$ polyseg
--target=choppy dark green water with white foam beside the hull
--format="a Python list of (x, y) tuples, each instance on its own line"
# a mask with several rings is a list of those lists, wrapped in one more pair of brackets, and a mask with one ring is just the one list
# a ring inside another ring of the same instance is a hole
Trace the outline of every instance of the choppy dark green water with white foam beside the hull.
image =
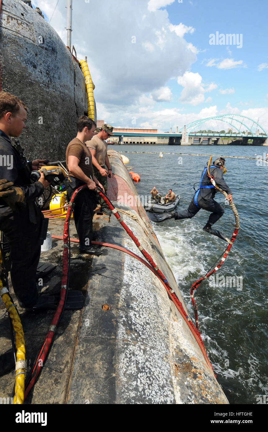
[[(199, 182), (208, 157), (164, 154), (161, 159), (158, 153), (128, 151), (199, 154), (213, 151), (214, 155), (247, 157), (268, 151), (268, 147), (262, 146), (109, 147), (123, 151), (129, 158), (129, 166), (141, 174), (136, 186), (140, 195), (148, 195), (153, 186), (162, 195), (171, 188), (182, 197), (180, 209), (188, 207), (194, 194), (193, 183)], [(227, 159), (226, 167), (224, 178), (233, 192), (240, 231), (226, 262), (217, 272), (218, 286), (213, 281), (202, 284), (197, 302), (199, 330), (229, 402), (251, 404), (257, 403), (257, 397), (268, 395), (268, 164), (257, 166), (251, 159)], [(223, 204), (225, 213), (215, 227), (230, 237), (233, 212), (224, 205), (223, 195), (217, 194), (216, 200)], [(190, 287), (212, 264), (219, 262), (227, 246), (202, 231), (208, 215), (200, 210), (193, 219), (152, 222), (193, 321)], [(236, 283), (226, 283), (222, 276), (235, 276)]]

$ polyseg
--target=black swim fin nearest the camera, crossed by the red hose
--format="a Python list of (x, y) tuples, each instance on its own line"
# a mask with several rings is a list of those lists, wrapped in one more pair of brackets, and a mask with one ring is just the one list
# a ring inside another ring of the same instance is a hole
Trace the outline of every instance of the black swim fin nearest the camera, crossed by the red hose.
[[(57, 309), (60, 295), (41, 295), (38, 302), (32, 308), (25, 308), (26, 311), (37, 311), (38, 309)], [(65, 302), (66, 310), (82, 309), (85, 297), (81, 291), (68, 291)]]

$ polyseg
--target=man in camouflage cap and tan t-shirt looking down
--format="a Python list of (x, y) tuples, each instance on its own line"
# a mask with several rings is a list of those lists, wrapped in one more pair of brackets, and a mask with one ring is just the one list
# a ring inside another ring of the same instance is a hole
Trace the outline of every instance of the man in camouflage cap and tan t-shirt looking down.
[[(107, 155), (107, 138), (109, 138), (113, 134), (113, 127), (110, 124), (103, 124), (101, 127), (101, 131), (95, 135), (90, 141), (87, 141), (85, 144), (89, 147), (91, 155), (92, 155), (92, 164), (93, 171), (98, 181), (103, 185), (105, 194), (107, 195), (107, 175), (112, 174), (112, 170), (110, 167), (110, 162)], [(104, 165), (107, 166), (108, 172), (105, 169)], [(105, 201), (101, 198), (101, 212), (110, 215), (111, 211)]]

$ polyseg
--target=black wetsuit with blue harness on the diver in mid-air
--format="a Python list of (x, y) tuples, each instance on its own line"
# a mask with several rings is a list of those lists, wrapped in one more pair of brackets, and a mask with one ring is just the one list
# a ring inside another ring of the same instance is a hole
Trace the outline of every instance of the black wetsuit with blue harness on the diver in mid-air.
[[(187, 210), (182, 210), (175, 213), (175, 219), (191, 219), (200, 209), (207, 210), (211, 212), (209, 216), (208, 223), (213, 225), (218, 219), (224, 214), (223, 207), (214, 200), (216, 189), (208, 177), (208, 167), (204, 168), (202, 172), (201, 180), (199, 183), (199, 189)], [(224, 181), (223, 172), (220, 167), (216, 165), (211, 165), (210, 174), (214, 177), (215, 183), (227, 194), (232, 194), (229, 187)]]

